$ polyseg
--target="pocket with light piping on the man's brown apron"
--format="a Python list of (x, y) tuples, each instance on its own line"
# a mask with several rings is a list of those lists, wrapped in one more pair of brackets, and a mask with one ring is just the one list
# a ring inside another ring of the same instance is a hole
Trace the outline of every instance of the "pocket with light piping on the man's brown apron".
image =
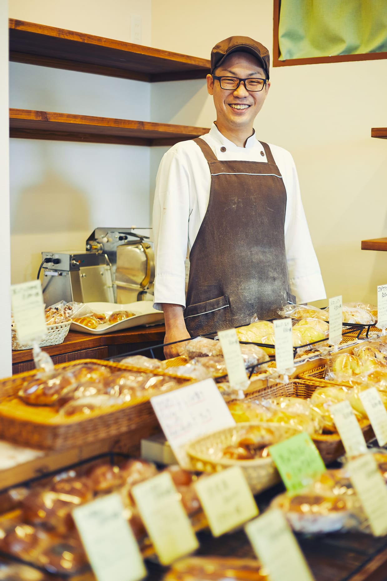
[(191, 337), (207, 335), (223, 329), (230, 329), (231, 317), (229, 297), (205, 300), (204, 303), (190, 304), (184, 311), (187, 331)]

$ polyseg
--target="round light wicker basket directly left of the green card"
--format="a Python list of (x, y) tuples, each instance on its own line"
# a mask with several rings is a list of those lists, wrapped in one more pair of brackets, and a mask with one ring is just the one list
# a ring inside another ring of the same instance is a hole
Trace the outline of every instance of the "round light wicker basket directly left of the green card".
[(250, 426), (259, 426), (263, 432), (267, 429), (270, 434), (274, 432), (278, 440), (284, 440), (299, 433), (296, 428), (280, 424), (258, 424), (255, 422), (236, 424), (232, 428), (220, 430), (188, 444), (186, 452), (194, 465), (194, 469), (199, 472), (219, 472), (225, 468), (239, 466), (243, 470), (253, 494), (258, 494), (280, 482), (280, 475), (271, 457), (256, 458), (256, 460), (222, 458), (222, 450), (233, 443), (238, 433)]

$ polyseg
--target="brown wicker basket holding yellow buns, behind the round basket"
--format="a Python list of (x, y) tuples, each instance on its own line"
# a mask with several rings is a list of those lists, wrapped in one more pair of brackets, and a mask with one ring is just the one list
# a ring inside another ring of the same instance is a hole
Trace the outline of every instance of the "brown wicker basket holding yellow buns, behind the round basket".
[[(302, 397), (302, 399), (308, 399), (312, 396), (313, 392), (317, 388), (337, 386), (337, 383), (324, 381), (322, 385), (321, 379), (314, 381), (313, 379), (293, 379), (289, 383), (277, 384), (270, 386), (267, 389), (262, 389), (259, 394), (255, 397), (272, 398), (272, 397)], [(248, 400), (254, 399), (254, 396), (248, 397)], [(372, 426), (368, 420), (364, 420), (360, 423), (361, 431), (363, 432), (364, 439), (366, 442), (372, 440), (375, 437)], [(321, 457), (323, 458), (325, 464), (336, 460), (339, 456), (345, 454), (344, 446), (341, 438), (338, 434), (313, 434), (312, 440), (319, 450)]]

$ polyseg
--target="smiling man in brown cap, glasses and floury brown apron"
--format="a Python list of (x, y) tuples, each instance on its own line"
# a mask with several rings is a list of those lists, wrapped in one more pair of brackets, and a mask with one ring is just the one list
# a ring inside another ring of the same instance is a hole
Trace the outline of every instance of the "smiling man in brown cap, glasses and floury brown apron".
[[(230, 37), (211, 52), (216, 121), (174, 145), (157, 174), (154, 306), (165, 343), (268, 319), (288, 302), (325, 298), (289, 152), (256, 138), (270, 88), (269, 52)], [(185, 293), (185, 259), (190, 274)], [(179, 354), (179, 346), (164, 349)]]

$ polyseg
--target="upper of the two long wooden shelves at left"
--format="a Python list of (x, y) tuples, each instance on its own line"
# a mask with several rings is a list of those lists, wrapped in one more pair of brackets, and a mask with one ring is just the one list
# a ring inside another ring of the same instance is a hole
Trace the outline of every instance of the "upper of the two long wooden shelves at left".
[(151, 83), (205, 78), (210, 62), (129, 42), (9, 19), (10, 60)]

